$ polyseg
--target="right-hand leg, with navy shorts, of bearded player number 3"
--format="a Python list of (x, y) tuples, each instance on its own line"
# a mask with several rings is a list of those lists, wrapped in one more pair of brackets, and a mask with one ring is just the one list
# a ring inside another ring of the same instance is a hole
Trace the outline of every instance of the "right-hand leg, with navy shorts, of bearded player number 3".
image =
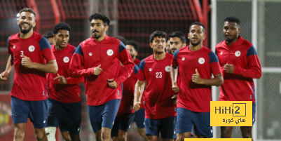
[(29, 101), (29, 119), (34, 126), (36, 140), (46, 141), (47, 100)]

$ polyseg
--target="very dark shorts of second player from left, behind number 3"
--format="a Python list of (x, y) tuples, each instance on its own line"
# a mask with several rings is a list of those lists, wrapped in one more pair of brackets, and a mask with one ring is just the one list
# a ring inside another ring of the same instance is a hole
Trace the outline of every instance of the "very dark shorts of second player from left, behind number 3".
[(48, 119), (46, 127), (60, 127), (71, 135), (78, 135), (81, 126), (81, 101), (74, 103), (58, 102), (48, 99)]

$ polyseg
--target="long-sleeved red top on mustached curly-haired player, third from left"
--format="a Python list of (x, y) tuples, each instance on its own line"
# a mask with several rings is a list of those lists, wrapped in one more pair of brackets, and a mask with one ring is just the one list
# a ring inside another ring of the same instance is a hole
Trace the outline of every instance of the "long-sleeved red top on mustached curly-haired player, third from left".
[[(102, 72), (95, 76), (94, 69), (99, 65)], [(69, 75), (85, 77), (87, 103), (90, 106), (97, 106), (109, 100), (121, 99), (120, 89), (109, 88), (107, 79), (114, 79), (119, 87), (132, 73), (134, 66), (124, 43), (107, 35), (102, 41), (96, 41), (91, 37), (76, 48), (71, 58)]]

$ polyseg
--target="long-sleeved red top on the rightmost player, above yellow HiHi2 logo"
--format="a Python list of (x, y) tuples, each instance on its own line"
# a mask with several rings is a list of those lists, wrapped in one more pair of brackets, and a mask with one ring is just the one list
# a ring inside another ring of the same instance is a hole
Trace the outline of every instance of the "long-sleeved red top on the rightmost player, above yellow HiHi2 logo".
[[(216, 53), (224, 74), (219, 100), (255, 102), (253, 79), (261, 78), (261, 64), (253, 44), (238, 36), (232, 46), (226, 41), (217, 44)], [(225, 73), (226, 63), (234, 65), (233, 74)]]

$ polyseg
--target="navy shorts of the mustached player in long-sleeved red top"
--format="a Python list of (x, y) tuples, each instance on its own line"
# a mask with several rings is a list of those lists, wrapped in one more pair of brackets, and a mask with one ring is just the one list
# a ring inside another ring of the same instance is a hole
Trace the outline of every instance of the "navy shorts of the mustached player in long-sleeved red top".
[(119, 109), (120, 99), (110, 100), (103, 105), (88, 106), (88, 114), (92, 130), (97, 133), (102, 127), (112, 128)]

